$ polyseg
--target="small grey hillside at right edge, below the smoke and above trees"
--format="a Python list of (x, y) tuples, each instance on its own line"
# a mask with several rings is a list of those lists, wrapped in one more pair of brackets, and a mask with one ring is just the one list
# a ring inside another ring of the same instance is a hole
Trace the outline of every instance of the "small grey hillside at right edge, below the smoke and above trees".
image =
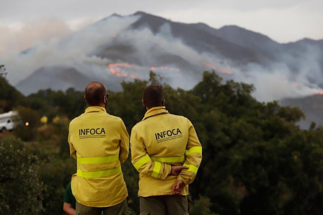
[(298, 107), (305, 113), (305, 119), (300, 121), (301, 128), (308, 129), (312, 122), (323, 126), (323, 95), (285, 99), (281, 105)]

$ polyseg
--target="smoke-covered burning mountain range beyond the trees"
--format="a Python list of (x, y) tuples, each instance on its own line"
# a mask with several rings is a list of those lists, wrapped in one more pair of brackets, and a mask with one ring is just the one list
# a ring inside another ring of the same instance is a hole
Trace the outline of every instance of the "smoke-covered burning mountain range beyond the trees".
[(212, 69), (224, 80), (254, 84), (261, 101), (323, 91), (323, 40), (280, 44), (238, 26), (214, 29), (143, 12), (114, 14), (1, 62), (24, 94), (48, 87), (83, 90), (92, 80), (119, 90), (123, 80), (147, 79), (149, 70), (189, 89)]

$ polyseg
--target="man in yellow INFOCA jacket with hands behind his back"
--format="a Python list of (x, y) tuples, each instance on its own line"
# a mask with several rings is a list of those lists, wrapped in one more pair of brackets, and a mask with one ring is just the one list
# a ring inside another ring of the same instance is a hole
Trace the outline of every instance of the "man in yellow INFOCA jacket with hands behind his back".
[[(192, 123), (168, 113), (161, 86), (147, 86), (141, 122), (131, 131), (132, 163), (139, 172), (140, 213), (188, 214), (188, 184), (202, 160), (202, 146)], [(185, 108), (185, 107), (183, 107)]]

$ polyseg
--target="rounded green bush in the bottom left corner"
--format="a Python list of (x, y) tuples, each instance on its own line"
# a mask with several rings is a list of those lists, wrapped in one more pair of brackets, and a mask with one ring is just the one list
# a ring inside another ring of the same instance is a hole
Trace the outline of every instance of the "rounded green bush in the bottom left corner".
[(16, 138), (0, 141), (0, 212), (30, 215), (43, 211), (43, 183), (37, 156)]

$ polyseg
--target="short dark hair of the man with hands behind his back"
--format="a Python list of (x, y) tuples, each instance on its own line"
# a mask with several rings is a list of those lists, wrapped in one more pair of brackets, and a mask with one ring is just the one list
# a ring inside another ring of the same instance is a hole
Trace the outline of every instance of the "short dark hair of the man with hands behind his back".
[(149, 85), (143, 90), (143, 101), (148, 108), (160, 107), (164, 92), (160, 85)]

